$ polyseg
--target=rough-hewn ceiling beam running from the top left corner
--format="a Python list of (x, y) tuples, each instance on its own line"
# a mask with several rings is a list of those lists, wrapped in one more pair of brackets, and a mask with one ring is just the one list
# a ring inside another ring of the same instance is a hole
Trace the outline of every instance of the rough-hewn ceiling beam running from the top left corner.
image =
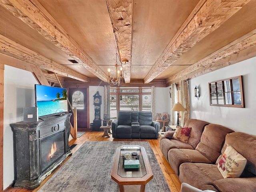
[(88, 71), (107, 82), (108, 76), (105, 72), (98, 67), (37, 0), (0, 0), (0, 4)]

